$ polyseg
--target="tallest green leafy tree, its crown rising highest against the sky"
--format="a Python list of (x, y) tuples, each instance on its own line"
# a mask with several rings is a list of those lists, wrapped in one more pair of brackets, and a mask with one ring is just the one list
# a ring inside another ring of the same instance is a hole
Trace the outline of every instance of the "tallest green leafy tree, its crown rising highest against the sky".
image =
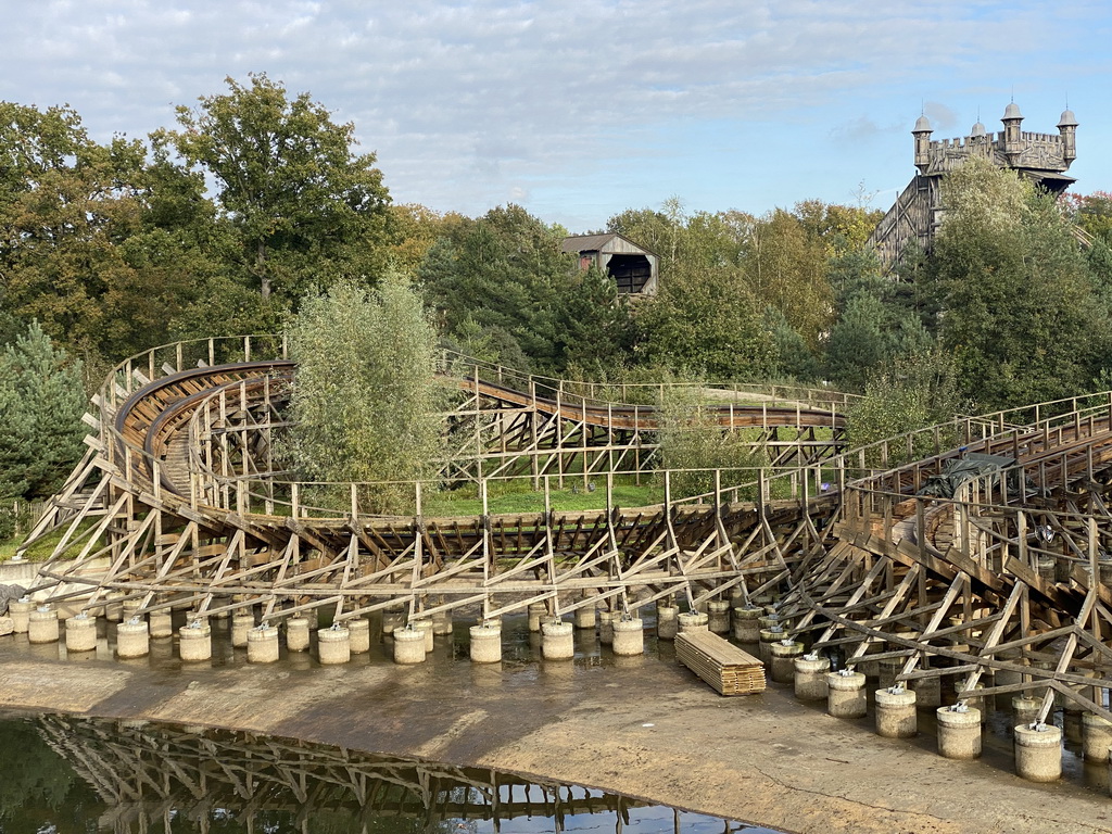
[(355, 127), (307, 92), (291, 100), (266, 73), (226, 82), (228, 95), (178, 107), (182, 129), (159, 138), (216, 180), (245, 278), (266, 299), (379, 275), (389, 195), (375, 155), (353, 151)]

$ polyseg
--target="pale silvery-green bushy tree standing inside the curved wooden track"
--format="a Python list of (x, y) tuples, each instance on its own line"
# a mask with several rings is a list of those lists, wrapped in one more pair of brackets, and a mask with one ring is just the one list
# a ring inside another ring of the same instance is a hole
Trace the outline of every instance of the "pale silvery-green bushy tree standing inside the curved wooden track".
[[(364, 508), (413, 512), (413, 481), (440, 454), (436, 332), (397, 275), (368, 294), (341, 280), (304, 299), (289, 327), (297, 361), (285, 450), (300, 478), (367, 483)], [(326, 498), (347, 500), (324, 490)], [(341, 505), (346, 506), (346, 504)]]

